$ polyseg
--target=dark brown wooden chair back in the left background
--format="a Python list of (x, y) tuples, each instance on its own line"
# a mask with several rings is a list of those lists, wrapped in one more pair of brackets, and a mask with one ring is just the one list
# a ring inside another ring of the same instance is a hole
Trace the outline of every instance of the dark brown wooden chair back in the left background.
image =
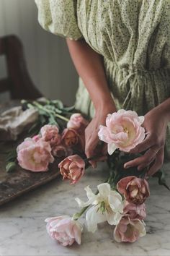
[(6, 57), (7, 77), (0, 80), (0, 93), (9, 91), (12, 99), (35, 99), (42, 94), (35, 88), (24, 59), (23, 46), (15, 35), (0, 38), (0, 56)]

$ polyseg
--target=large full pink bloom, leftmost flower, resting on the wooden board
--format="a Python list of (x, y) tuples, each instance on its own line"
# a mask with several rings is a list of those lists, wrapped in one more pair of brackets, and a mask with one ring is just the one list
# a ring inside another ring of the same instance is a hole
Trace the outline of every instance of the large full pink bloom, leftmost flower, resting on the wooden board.
[(29, 171), (48, 171), (48, 163), (53, 163), (48, 142), (27, 138), (17, 147), (19, 166)]

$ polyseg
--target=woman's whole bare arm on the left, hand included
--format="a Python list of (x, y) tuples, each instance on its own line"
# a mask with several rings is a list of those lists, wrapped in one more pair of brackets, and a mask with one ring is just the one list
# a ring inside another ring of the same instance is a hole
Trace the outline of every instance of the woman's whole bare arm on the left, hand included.
[[(98, 129), (105, 124), (107, 114), (116, 111), (115, 103), (109, 92), (104, 72), (102, 56), (97, 54), (85, 40), (67, 39), (68, 48), (79, 76), (89, 91), (91, 101), (94, 103), (95, 116), (86, 128), (86, 156), (95, 154), (99, 142)], [(95, 162), (91, 164), (95, 166)]]

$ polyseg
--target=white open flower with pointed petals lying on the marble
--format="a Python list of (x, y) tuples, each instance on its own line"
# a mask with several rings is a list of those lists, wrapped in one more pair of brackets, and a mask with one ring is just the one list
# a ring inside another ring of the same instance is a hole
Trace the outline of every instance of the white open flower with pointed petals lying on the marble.
[(76, 198), (80, 207), (91, 205), (86, 212), (86, 223), (88, 230), (95, 232), (97, 223), (107, 221), (110, 225), (117, 225), (122, 218), (123, 202), (121, 195), (112, 190), (108, 183), (97, 186), (99, 193), (97, 195), (88, 187), (85, 188), (86, 195), (89, 198), (87, 202)]

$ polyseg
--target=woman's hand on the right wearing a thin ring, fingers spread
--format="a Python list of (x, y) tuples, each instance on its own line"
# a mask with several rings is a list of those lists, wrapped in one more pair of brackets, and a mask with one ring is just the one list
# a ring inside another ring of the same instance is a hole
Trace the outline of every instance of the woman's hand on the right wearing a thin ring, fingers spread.
[(143, 127), (146, 129), (146, 138), (133, 150), (130, 150), (130, 153), (141, 153), (143, 151), (145, 153), (133, 161), (125, 163), (125, 168), (138, 166), (138, 171), (141, 171), (152, 163), (146, 177), (152, 176), (161, 168), (164, 162), (166, 128), (169, 121), (163, 109), (161, 106), (158, 106), (146, 114), (145, 121), (143, 122)]

